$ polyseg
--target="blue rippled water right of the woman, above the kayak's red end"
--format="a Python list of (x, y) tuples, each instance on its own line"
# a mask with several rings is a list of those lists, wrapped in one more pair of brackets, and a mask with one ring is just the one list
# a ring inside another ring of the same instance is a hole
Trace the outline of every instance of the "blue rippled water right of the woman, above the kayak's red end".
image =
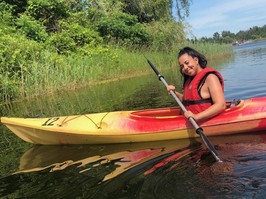
[(228, 99), (266, 95), (266, 41), (236, 46), (235, 59), (222, 66)]

